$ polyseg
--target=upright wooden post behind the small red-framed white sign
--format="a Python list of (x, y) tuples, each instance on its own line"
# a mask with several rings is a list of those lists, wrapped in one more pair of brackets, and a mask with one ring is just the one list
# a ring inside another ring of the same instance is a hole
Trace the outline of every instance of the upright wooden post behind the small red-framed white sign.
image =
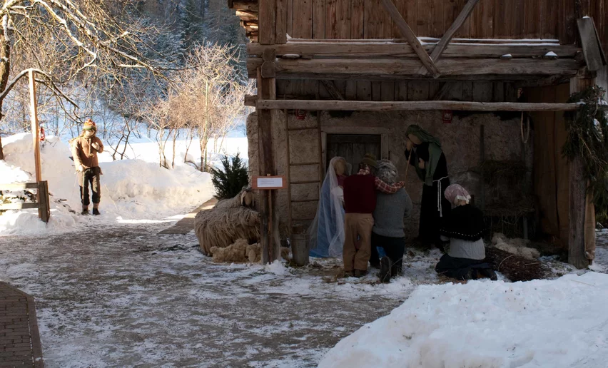
[[(258, 98), (273, 100), (276, 98), (274, 78), (262, 78), (258, 68)], [(258, 110), (258, 144), (260, 153), (259, 175), (276, 175), (273, 150), (273, 111)], [(273, 198), (274, 197), (274, 198)], [(276, 208), (276, 191), (260, 191), (260, 245), (262, 246), (262, 263), (273, 262), (280, 257), (278, 242), (278, 210)], [(270, 220), (273, 218), (274, 220)]]

